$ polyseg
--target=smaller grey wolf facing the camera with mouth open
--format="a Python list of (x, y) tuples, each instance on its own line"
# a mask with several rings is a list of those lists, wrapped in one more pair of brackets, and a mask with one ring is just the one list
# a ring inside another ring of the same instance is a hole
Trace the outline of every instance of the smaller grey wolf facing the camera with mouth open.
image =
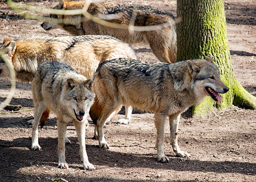
[(65, 133), (67, 125), (73, 122), (80, 145), (83, 169), (94, 170), (85, 150), (85, 125), (89, 109), (93, 104), (93, 81), (67, 64), (44, 62), (40, 64), (32, 81), (34, 122), (31, 149), (41, 149), (38, 143), (38, 124), (48, 109), (57, 115), (58, 167), (68, 169), (65, 160)]

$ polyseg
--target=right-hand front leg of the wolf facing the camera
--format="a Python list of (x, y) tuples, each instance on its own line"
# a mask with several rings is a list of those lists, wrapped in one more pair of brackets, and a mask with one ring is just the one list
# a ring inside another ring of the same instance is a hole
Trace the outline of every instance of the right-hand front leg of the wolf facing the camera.
[(91, 164), (88, 160), (87, 153), (86, 153), (86, 148), (85, 148), (85, 127), (86, 123), (85, 122), (78, 122), (75, 121), (74, 125), (76, 127), (76, 134), (80, 146), (80, 157), (83, 162), (83, 169), (88, 169), (88, 170), (94, 170), (95, 167), (93, 164)]

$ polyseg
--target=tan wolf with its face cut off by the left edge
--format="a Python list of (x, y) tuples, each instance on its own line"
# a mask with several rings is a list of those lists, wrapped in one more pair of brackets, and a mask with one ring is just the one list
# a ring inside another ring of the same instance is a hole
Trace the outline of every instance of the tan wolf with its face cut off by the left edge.
[[(20, 82), (31, 82), (42, 62), (64, 62), (78, 73), (93, 79), (98, 64), (104, 60), (114, 58), (137, 59), (132, 47), (111, 36), (32, 36), (11, 40), (4, 38), (0, 47), (2, 57), (15, 69), (16, 78)], [(0, 76), (8, 75), (9, 70), (0, 57)], [(96, 99), (95, 99), (96, 100)], [(128, 124), (132, 114), (132, 107), (126, 106), (125, 119), (120, 123)], [(48, 117), (48, 110), (43, 114), (41, 123)], [(110, 118), (109, 118), (110, 120)], [(108, 120), (108, 121), (109, 121)]]

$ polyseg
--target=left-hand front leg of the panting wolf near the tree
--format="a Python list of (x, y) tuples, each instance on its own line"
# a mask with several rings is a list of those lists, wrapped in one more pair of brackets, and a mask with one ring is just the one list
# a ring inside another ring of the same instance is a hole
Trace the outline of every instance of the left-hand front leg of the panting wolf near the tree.
[(164, 135), (165, 135), (165, 118), (166, 115), (155, 113), (156, 124), (156, 147), (157, 147), (157, 160), (158, 162), (168, 163), (169, 158), (165, 155), (163, 149)]

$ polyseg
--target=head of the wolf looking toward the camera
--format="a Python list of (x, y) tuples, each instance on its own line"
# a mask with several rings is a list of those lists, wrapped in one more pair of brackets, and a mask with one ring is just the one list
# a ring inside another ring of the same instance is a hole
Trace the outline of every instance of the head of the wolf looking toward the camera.
[[(85, 77), (84, 77), (85, 78)], [(93, 104), (95, 94), (92, 90), (93, 80), (69, 78), (66, 81), (62, 100), (67, 105), (69, 115), (78, 121), (87, 117)]]

